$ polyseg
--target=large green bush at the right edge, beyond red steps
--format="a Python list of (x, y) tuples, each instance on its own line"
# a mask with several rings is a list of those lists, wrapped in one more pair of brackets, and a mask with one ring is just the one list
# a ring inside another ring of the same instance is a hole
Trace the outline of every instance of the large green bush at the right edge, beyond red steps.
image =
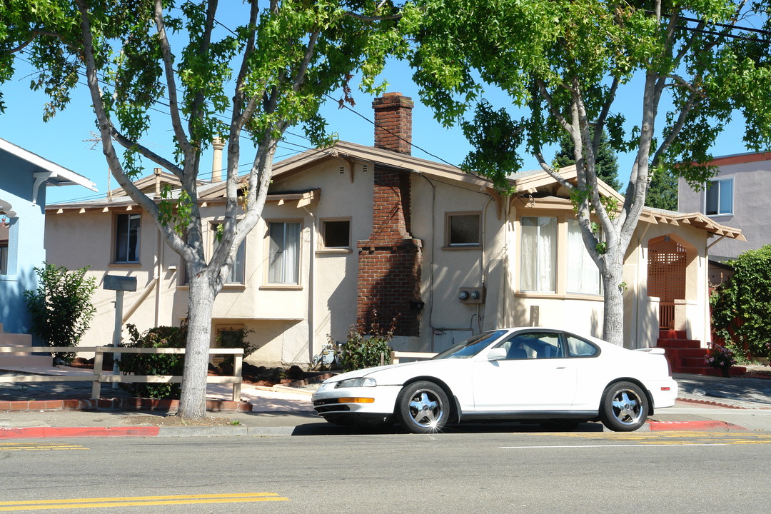
[(749, 250), (729, 263), (734, 274), (709, 298), (717, 342), (725, 341), (739, 364), (769, 355), (771, 347), (771, 245)]

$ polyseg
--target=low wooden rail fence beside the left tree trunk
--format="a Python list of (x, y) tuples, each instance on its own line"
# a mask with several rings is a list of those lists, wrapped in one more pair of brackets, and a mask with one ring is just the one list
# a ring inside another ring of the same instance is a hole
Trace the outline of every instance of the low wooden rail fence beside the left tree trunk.
[[(104, 354), (184, 354), (187, 348), (126, 348), (123, 346), (0, 346), (0, 354), (54, 353), (54, 352), (94, 352), (93, 375), (4, 375), (4, 382), (54, 382), (54, 381), (93, 381), (91, 398), (98, 400), (103, 383), (180, 383), (180, 375), (113, 375), (102, 369)], [(241, 369), (244, 363), (243, 348), (210, 348), (209, 354), (234, 355), (233, 375), (224, 377), (207, 377), (207, 384), (232, 384), (233, 401), (241, 400)]]

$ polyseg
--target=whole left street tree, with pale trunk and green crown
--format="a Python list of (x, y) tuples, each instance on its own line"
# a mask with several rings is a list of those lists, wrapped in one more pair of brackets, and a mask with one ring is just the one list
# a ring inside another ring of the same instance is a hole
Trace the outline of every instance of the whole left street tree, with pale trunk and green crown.
[[(9, 0), (0, 9), (0, 59), (8, 66), (0, 80), (23, 49), (38, 72), (33, 87), (49, 95), (45, 119), (85, 80), (109, 169), (184, 261), (190, 300), (183, 418), (206, 414), (212, 305), (261, 218), (276, 145), (291, 126), (305, 127), (315, 145), (332, 143), (319, 115), (325, 96), (352, 102), (349, 82), (357, 73), (363, 89), (382, 92), (375, 76), (387, 55), (406, 51), (402, 35), (414, 32), (419, 18), (409, 3), (375, 0), (224, 3), (241, 25), (222, 23), (217, 0)], [(169, 154), (142, 143), (160, 123)], [(197, 188), (201, 153), (214, 136), (227, 143), (227, 200), (207, 260)], [(138, 190), (131, 180), (140, 157), (177, 176), (180, 193), (172, 198), (167, 190), (157, 203)], [(251, 169), (240, 177), (245, 159)]]

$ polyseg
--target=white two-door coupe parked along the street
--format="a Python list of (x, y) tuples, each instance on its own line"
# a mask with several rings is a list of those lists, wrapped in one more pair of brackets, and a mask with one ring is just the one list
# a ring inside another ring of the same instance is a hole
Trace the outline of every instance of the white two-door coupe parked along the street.
[(313, 395), (328, 422), (399, 422), (409, 432), (447, 423), (514, 419), (563, 428), (600, 420), (640, 428), (675, 405), (678, 385), (661, 348), (627, 350), (549, 328), (476, 334), (428, 361), (350, 371)]

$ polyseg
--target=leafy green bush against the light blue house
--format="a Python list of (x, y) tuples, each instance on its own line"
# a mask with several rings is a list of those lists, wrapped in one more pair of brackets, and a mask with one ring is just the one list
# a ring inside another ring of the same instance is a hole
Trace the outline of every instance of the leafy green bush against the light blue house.
[[(49, 346), (77, 346), (96, 312), (91, 303), (96, 277), (86, 277), (88, 267), (70, 271), (63, 266), (46, 264), (34, 269), (38, 288), (24, 291), (32, 315), (32, 334), (40, 336)], [(69, 364), (75, 354), (55, 352), (53, 357)]]

